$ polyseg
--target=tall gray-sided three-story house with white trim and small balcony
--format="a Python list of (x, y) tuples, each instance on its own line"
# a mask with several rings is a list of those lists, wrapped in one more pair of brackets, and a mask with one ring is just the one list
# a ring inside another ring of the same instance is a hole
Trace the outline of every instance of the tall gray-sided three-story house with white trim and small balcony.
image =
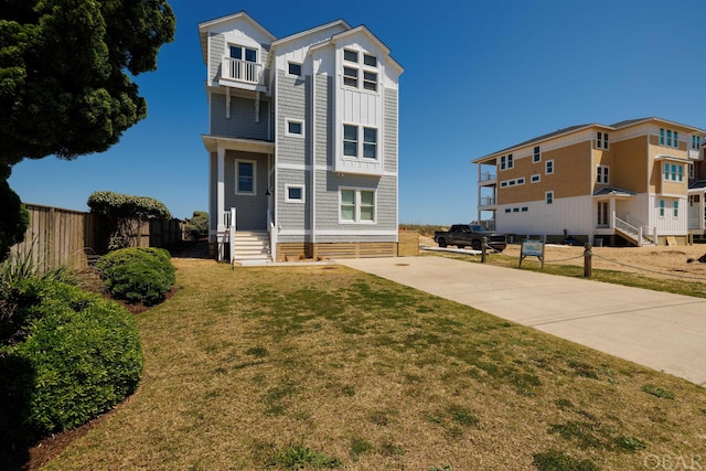
[(279, 260), (396, 255), (403, 68), (387, 46), (343, 20), (277, 39), (245, 12), (199, 32), (218, 258), (246, 259), (242, 233)]

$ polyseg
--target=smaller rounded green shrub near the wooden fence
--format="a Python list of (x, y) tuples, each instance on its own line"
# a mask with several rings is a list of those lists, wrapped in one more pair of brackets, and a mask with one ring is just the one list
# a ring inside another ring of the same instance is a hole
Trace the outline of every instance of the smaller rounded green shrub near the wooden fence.
[(169, 251), (129, 247), (111, 251), (96, 264), (110, 296), (152, 306), (164, 299), (176, 281)]

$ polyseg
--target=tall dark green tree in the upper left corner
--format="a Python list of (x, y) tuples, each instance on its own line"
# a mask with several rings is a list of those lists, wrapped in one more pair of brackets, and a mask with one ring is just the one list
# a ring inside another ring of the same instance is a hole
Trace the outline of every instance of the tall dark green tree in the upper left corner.
[(147, 116), (132, 77), (174, 29), (167, 0), (0, 0), (0, 175), (116, 143)]

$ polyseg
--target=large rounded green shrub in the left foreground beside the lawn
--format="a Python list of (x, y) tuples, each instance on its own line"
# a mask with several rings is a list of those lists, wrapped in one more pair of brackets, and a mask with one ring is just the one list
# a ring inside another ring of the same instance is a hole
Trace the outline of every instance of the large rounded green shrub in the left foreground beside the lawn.
[(68, 430), (132, 394), (143, 368), (132, 314), (72, 285), (28, 280), (26, 336), (0, 347), (0, 429), (10, 441)]

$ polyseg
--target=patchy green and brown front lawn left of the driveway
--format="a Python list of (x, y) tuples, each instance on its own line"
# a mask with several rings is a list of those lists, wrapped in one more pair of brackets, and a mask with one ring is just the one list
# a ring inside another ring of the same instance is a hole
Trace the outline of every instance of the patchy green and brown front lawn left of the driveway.
[(704, 453), (706, 390), (688, 382), (345, 267), (174, 264), (180, 291), (138, 314), (139, 392), (47, 470), (624, 470)]

